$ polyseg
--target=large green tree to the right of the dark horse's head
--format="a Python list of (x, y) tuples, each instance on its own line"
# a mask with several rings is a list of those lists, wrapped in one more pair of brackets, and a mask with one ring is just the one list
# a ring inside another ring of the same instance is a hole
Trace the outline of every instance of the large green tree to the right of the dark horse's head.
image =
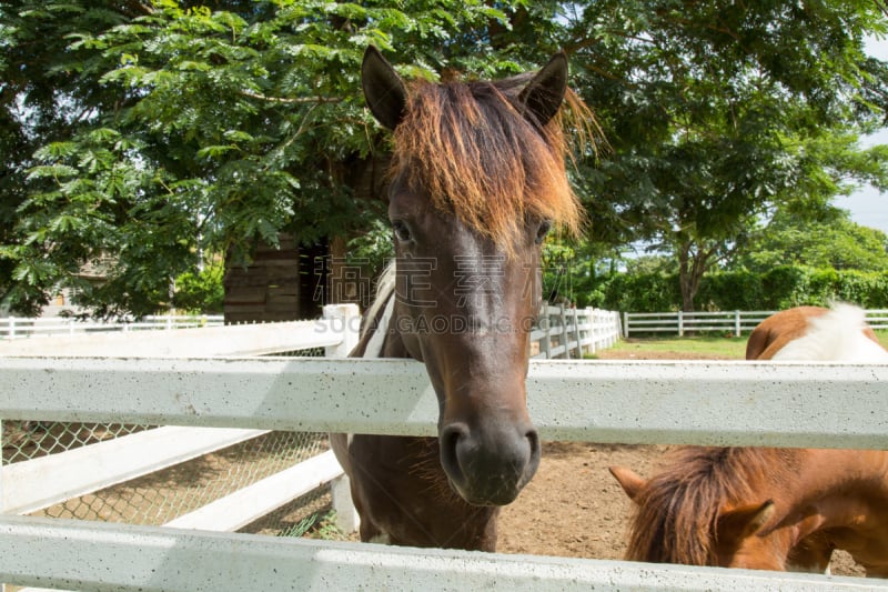
[(581, 175), (593, 237), (672, 253), (684, 310), (781, 201), (888, 179), (884, 150), (856, 147), (886, 112), (875, 2), (605, 1), (569, 31), (613, 148)]

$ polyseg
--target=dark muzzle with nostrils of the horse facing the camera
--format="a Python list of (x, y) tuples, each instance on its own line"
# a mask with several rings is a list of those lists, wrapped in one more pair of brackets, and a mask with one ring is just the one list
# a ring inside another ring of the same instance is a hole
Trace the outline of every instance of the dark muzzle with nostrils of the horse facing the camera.
[(440, 444), (451, 486), (473, 505), (512, 503), (539, 466), (539, 437), (529, 423), (493, 429), (450, 423)]

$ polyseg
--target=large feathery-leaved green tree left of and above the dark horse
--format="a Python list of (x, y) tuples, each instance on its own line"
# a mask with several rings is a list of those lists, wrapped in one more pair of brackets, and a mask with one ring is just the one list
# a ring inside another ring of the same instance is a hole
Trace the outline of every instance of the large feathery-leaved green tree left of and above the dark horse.
[[(98, 314), (144, 314), (200, 252), (245, 261), (281, 232), (357, 233), (381, 217), (369, 180), (385, 148), (360, 90), (366, 46), (396, 48), (407, 77), (501, 76), (555, 50), (554, 6), (4, 3), (3, 141), (20, 146), (22, 191), (2, 197), (0, 298), (33, 310), (72, 287)], [(91, 261), (102, 284), (79, 274)]]

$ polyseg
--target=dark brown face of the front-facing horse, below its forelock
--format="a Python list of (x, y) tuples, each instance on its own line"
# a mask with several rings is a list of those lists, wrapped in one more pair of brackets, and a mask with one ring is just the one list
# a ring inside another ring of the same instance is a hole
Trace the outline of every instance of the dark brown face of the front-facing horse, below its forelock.
[(467, 502), (509, 503), (539, 462), (525, 378), (547, 223), (528, 222), (506, 255), (397, 181), (389, 213), (397, 257), (394, 322), (438, 397), (442, 466)]

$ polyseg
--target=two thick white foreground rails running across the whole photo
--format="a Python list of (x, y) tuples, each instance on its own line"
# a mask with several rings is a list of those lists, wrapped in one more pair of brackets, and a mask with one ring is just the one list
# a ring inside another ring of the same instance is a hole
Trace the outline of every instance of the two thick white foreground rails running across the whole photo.
[[(888, 365), (535, 360), (527, 389), (549, 441), (888, 449)], [(0, 391), (10, 419), (433, 435), (438, 412), (424, 367), (407, 360), (7, 358)], [(0, 581), (122, 591), (888, 590), (886, 580), (11, 515), (0, 516)]]

